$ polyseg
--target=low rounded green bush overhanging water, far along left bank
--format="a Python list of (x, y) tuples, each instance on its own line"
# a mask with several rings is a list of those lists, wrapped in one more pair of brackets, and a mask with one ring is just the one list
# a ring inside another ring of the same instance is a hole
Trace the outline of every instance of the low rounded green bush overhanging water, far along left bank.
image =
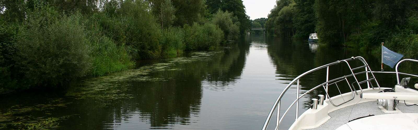
[(184, 26), (186, 50), (214, 49), (224, 39), (224, 32), (212, 23)]

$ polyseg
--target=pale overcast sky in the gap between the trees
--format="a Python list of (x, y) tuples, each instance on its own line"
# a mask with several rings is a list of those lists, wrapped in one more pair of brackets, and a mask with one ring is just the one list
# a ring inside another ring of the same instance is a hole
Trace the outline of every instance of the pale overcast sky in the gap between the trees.
[(276, 4), (276, 0), (242, 0), (250, 19), (267, 18), (270, 10)]

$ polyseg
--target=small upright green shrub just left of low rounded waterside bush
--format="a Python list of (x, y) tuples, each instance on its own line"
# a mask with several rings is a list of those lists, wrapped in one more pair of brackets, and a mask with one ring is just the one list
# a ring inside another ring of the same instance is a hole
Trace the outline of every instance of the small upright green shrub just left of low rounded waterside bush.
[(161, 50), (166, 57), (174, 57), (184, 50), (184, 30), (181, 28), (168, 28), (163, 31), (160, 39)]

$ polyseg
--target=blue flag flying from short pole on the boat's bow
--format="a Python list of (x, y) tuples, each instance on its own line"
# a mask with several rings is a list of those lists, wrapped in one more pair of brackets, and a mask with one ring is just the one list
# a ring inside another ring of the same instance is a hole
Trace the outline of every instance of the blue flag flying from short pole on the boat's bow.
[(385, 46), (382, 46), (382, 62), (386, 65), (389, 65), (393, 68), (402, 57), (402, 54), (393, 52), (392, 50), (387, 49)]

